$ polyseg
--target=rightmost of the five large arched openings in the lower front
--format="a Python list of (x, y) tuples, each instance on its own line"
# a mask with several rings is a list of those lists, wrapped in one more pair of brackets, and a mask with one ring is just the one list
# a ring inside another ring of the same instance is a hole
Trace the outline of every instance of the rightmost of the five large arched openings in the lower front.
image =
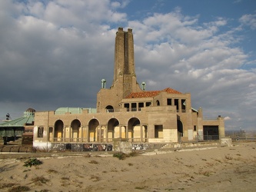
[(141, 141), (141, 122), (138, 118), (131, 118), (128, 121), (128, 138), (131, 142)]

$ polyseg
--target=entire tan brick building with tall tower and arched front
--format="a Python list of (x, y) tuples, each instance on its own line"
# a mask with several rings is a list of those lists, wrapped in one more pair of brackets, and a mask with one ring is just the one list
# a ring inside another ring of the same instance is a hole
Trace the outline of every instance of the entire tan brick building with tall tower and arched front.
[(85, 147), (111, 144), (115, 138), (149, 144), (224, 137), (224, 118), (205, 121), (202, 109), (191, 107), (191, 94), (171, 88), (146, 91), (145, 86), (135, 74), (132, 29), (118, 28), (111, 87), (102, 79), (96, 108), (35, 112), (34, 147)]

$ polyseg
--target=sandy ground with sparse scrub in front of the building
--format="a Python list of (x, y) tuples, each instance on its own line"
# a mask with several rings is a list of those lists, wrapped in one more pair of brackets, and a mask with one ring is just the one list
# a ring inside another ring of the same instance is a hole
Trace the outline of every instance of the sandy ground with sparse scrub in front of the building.
[(193, 151), (0, 160), (0, 191), (255, 191), (256, 144)]

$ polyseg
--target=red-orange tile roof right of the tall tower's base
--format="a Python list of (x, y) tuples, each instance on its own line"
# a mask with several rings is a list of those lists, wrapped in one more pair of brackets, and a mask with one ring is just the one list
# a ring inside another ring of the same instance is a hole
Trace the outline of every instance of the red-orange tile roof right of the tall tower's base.
[(161, 92), (167, 92), (168, 94), (182, 94), (180, 91), (176, 91), (172, 88), (165, 88), (161, 91), (142, 91), (129, 94), (126, 98), (153, 98)]

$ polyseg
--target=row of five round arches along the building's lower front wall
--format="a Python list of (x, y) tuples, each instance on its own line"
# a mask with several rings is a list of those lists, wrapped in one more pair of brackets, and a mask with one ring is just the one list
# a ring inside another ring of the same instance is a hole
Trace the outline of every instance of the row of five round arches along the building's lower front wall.
[(55, 121), (53, 127), (49, 127), (48, 141), (50, 142), (107, 142), (113, 138), (128, 138), (131, 142), (147, 142), (148, 126), (141, 124), (138, 118), (131, 118), (128, 124), (120, 124), (118, 119), (111, 118), (108, 123), (102, 125), (97, 119), (91, 119), (88, 125), (81, 125), (81, 121), (75, 119), (70, 126), (66, 126), (62, 120)]

